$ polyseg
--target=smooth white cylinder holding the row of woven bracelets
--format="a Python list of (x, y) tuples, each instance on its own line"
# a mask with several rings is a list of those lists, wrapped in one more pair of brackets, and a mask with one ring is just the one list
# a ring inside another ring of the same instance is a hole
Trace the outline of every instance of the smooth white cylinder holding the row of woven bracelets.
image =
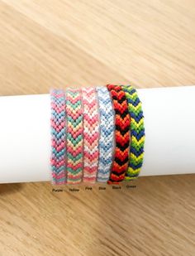
[[(195, 173), (195, 86), (138, 89), (140, 176)], [(50, 181), (50, 95), (0, 97), (0, 183)]]

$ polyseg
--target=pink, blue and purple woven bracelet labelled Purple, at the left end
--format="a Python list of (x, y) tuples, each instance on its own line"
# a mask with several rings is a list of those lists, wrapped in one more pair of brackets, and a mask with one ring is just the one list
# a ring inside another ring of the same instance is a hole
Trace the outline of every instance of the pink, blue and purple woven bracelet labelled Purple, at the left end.
[(64, 91), (52, 89), (51, 99), (51, 157), (52, 179), (55, 185), (64, 184), (65, 173), (65, 99)]

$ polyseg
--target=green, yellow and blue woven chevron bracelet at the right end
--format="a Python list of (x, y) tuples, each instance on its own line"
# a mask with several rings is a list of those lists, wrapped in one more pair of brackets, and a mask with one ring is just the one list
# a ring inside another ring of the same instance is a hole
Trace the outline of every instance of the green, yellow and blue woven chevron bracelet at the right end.
[(125, 177), (126, 181), (130, 181), (139, 176), (140, 168), (143, 164), (145, 144), (144, 116), (136, 89), (131, 85), (124, 85), (122, 89), (126, 93), (128, 109), (131, 115), (130, 162)]

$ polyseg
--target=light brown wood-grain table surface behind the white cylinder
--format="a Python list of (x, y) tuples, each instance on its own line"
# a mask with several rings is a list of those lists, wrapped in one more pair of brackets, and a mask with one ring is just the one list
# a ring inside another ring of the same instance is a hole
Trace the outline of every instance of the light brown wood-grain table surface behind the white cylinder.
[[(193, 85), (194, 27), (193, 0), (3, 0), (0, 94)], [(195, 176), (134, 184), (79, 192), (1, 185), (0, 255), (194, 256)]]

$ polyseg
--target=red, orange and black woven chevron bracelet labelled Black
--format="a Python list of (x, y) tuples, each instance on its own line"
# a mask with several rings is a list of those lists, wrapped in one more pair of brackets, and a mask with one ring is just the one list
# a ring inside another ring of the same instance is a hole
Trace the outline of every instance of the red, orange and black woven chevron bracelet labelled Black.
[(131, 118), (128, 112), (126, 94), (121, 89), (121, 86), (107, 85), (107, 89), (112, 95), (113, 108), (116, 114), (116, 149), (112, 163), (111, 176), (107, 182), (118, 183), (123, 181), (128, 167)]

